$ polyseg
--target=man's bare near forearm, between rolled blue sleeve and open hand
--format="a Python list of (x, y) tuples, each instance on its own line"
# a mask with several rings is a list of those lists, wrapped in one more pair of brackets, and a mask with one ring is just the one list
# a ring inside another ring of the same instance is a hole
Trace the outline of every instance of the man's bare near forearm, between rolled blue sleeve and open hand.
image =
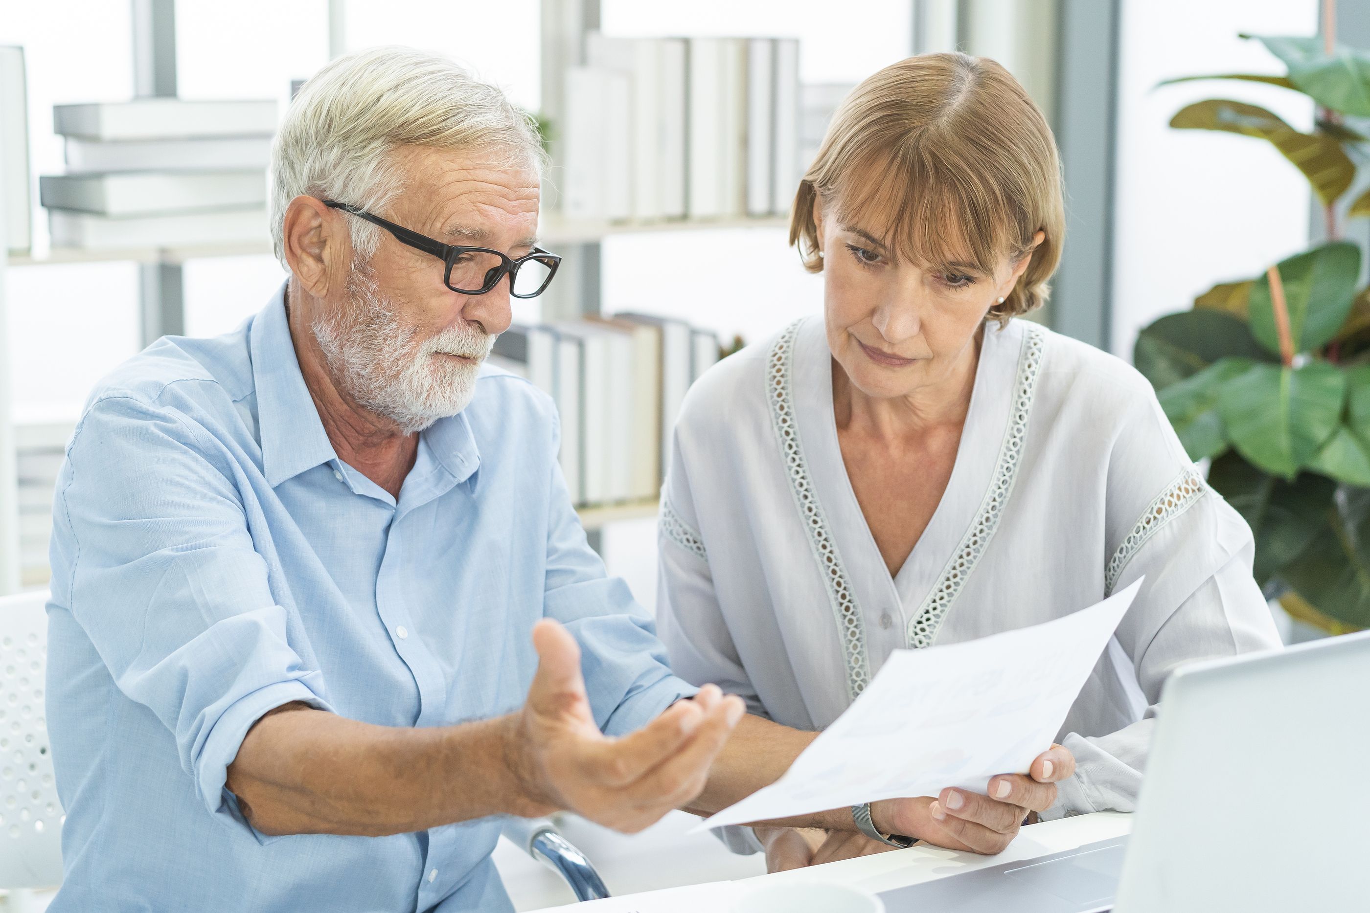
[(262, 717), (227, 788), (263, 834), (382, 836), (488, 814), (541, 814), (511, 751), (512, 716), (432, 728), (358, 723), (303, 705)]

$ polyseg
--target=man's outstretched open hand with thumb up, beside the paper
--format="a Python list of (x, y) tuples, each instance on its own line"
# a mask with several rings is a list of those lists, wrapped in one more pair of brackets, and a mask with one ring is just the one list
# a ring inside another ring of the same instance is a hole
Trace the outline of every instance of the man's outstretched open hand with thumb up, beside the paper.
[(527, 799), (519, 814), (567, 809), (616, 831), (636, 832), (704, 788), (710, 765), (747, 708), (706, 684), (632, 735), (606, 736), (595, 724), (581, 650), (544, 619), (533, 628), (537, 675), (523, 709), (510, 717), (508, 769)]

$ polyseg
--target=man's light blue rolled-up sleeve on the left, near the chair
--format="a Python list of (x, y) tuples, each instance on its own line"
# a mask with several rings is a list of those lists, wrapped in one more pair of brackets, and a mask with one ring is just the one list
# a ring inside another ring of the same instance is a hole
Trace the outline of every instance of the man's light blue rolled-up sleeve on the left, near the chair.
[(175, 408), (92, 404), (58, 480), (53, 567), (68, 572), (52, 602), (173, 732), (206, 809), (241, 821), (225, 780), (252, 724), (289, 702), (332, 708), (290, 646), (221, 448)]

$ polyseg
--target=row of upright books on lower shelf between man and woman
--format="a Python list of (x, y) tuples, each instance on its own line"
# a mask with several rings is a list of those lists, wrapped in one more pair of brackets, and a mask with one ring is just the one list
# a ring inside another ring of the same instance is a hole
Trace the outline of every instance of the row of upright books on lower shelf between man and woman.
[(685, 391), (718, 355), (718, 337), (684, 320), (616, 313), (515, 324), (490, 363), (556, 402), (571, 500), (597, 506), (656, 500)]

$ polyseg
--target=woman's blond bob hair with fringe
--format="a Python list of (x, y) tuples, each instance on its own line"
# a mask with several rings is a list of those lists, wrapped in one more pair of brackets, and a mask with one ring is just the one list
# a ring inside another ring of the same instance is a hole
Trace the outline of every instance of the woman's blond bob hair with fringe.
[(1051, 127), (1000, 64), (925, 53), (856, 86), (833, 115), (790, 212), (789, 242), (810, 272), (823, 268), (823, 219), (860, 227), (900, 263), (969, 263), (993, 275), (1045, 240), (1018, 285), (989, 309), (1000, 322), (1047, 300), (1066, 231), (1060, 159)]

